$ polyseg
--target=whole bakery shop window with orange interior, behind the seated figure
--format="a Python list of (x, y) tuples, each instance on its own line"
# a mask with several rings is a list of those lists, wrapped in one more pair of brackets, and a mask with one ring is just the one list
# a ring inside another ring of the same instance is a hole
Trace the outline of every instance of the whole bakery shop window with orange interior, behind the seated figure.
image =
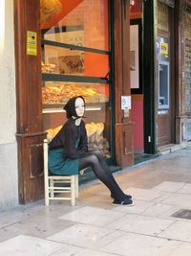
[(108, 23), (107, 0), (41, 0), (44, 129), (53, 138), (63, 105), (81, 95), (89, 148), (111, 158)]

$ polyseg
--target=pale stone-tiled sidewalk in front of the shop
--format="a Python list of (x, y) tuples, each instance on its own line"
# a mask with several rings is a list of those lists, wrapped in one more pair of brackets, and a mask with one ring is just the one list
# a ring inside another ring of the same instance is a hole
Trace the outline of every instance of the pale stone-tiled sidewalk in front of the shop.
[(75, 207), (42, 200), (0, 213), (0, 256), (190, 256), (191, 148), (116, 178), (134, 206), (113, 205), (96, 180), (80, 186)]

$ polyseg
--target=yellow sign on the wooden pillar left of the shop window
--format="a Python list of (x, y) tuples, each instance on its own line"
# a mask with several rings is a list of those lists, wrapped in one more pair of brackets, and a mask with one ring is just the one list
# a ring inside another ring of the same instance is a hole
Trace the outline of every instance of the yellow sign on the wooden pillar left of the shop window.
[(27, 32), (27, 55), (37, 56), (36, 32)]

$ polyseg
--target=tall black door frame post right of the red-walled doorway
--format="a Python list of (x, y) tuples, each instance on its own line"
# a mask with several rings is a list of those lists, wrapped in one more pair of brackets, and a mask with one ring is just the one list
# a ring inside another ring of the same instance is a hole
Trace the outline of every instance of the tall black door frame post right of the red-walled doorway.
[(143, 1), (142, 83), (144, 116), (144, 152), (156, 153), (157, 64), (156, 1)]

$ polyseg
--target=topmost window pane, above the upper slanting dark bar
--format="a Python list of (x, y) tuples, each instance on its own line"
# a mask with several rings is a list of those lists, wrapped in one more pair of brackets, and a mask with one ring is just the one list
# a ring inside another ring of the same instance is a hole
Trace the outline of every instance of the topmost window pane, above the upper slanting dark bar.
[(44, 39), (108, 50), (108, 0), (41, 1), (41, 31)]

